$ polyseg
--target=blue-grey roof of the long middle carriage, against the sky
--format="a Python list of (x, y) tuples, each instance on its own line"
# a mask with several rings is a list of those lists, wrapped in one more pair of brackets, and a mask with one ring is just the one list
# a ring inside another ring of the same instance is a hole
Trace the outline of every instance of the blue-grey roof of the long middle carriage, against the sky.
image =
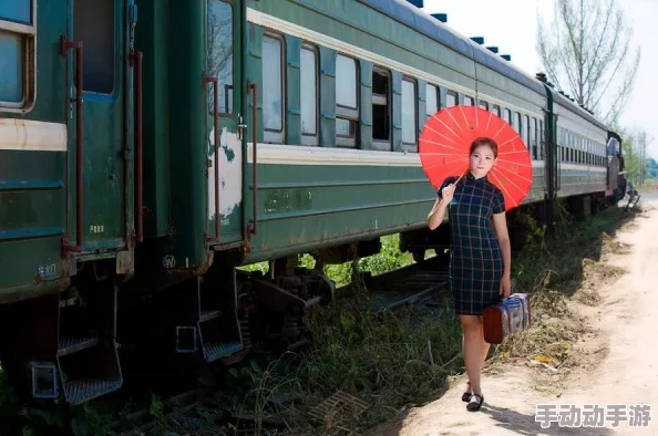
[(434, 39), (452, 50), (532, 89), (538, 94), (546, 95), (546, 89), (536, 79), (514, 68), (503, 58), (495, 55), (480, 44), (459, 32), (444, 25), (439, 20), (421, 11), (407, 0), (359, 0), (387, 15), (415, 29), (420, 33)]

